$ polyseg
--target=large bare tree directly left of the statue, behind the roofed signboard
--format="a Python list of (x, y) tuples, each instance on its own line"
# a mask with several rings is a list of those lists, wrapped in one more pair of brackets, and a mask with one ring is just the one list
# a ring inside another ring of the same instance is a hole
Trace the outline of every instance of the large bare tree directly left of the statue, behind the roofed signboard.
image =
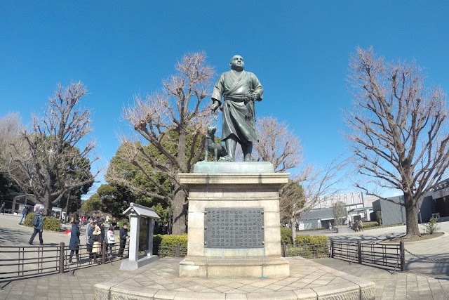
[[(189, 53), (180, 60), (177, 73), (162, 82), (162, 91), (141, 98), (124, 110), (123, 116), (154, 148), (148, 152), (142, 143), (123, 141), (123, 159), (131, 162), (145, 174), (147, 181), (157, 188), (157, 193), (133, 185), (121, 170), (109, 168), (108, 180), (127, 185), (130, 189), (163, 199), (173, 209), (173, 233), (187, 229), (188, 190), (180, 185), (177, 173), (191, 172), (204, 149), (205, 127), (211, 112), (204, 107), (203, 99), (210, 90), (213, 68), (206, 64), (206, 53)], [(130, 140), (130, 138), (126, 138)], [(172, 193), (155, 180), (154, 173), (166, 174), (173, 182)]]

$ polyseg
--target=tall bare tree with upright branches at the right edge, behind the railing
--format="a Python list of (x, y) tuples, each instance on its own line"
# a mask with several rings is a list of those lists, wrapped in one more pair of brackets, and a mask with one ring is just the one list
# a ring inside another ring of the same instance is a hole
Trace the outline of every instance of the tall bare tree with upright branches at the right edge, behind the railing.
[[(449, 164), (448, 108), (440, 88), (424, 86), (413, 63), (384, 63), (373, 48), (350, 60), (354, 108), (347, 116), (358, 172), (380, 188), (404, 194), (407, 237), (420, 235), (417, 205)], [(368, 185), (358, 185), (376, 195)], [(391, 200), (390, 200), (391, 201)]]

